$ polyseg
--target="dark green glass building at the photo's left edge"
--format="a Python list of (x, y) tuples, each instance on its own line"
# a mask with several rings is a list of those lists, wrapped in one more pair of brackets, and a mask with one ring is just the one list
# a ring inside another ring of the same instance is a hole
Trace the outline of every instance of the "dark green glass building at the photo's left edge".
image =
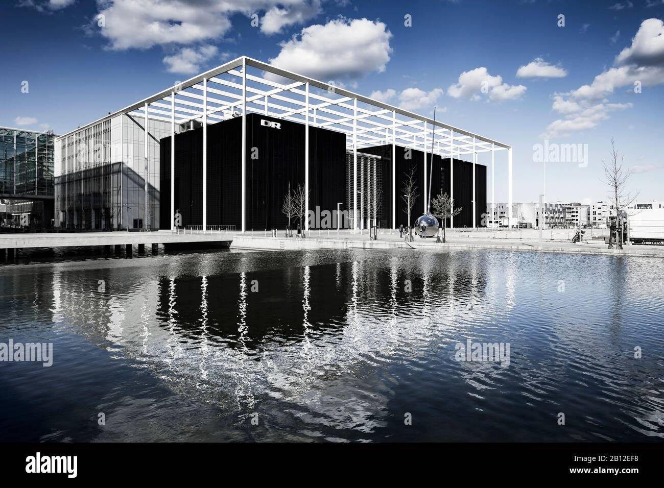
[(0, 127), (0, 199), (9, 209), (3, 226), (52, 226), (55, 138), (52, 131)]

